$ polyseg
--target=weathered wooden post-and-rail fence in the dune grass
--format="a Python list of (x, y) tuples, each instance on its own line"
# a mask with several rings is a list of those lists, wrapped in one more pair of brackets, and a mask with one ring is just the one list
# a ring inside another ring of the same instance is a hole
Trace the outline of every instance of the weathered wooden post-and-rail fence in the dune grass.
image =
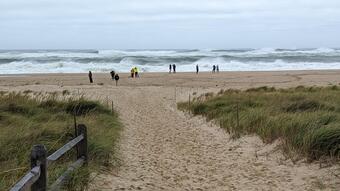
[(44, 145), (34, 145), (31, 151), (31, 170), (21, 178), (10, 191), (46, 191), (47, 167), (58, 160), (66, 152), (76, 147), (77, 161), (72, 163), (67, 170), (52, 184), (51, 190), (59, 190), (69, 178), (72, 171), (87, 164), (87, 128), (83, 124), (76, 126), (76, 137), (47, 157)]

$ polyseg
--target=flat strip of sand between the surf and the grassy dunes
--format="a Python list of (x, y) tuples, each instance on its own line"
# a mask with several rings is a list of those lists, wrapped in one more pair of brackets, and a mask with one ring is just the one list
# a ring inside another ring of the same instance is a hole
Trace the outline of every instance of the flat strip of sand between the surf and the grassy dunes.
[[(296, 87), (329, 86), (340, 84), (340, 70), (308, 71), (253, 71), (253, 72), (167, 72), (142, 73), (140, 78), (130, 78), (129, 73), (119, 73), (119, 85), (124, 87), (162, 86), (213, 89), (247, 89), (260, 86)], [(50, 74), (11, 74), (0, 75), (0, 87), (11, 90), (13, 87), (29, 85), (37, 87), (63, 86), (106, 86), (113, 87), (115, 82), (110, 73), (93, 73), (94, 83), (90, 84), (87, 73), (50, 73)]]

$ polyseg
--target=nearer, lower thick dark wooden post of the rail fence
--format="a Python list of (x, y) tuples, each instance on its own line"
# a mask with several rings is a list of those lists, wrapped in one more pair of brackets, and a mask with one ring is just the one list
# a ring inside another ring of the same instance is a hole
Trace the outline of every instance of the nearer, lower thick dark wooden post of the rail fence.
[(32, 184), (31, 191), (47, 190), (47, 151), (44, 145), (34, 145), (31, 152), (31, 168), (40, 166), (39, 179)]

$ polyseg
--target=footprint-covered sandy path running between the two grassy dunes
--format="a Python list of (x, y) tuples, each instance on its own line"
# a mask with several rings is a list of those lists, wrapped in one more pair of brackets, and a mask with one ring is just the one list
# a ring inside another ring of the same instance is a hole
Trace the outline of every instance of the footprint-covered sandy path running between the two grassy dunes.
[(293, 165), (256, 137), (233, 141), (177, 111), (174, 88), (128, 88), (114, 96), (125, 125), (124, 162), (118, 174), (97, 178), (98, 190), (332, 190), (339, 183), (329, 169)]

